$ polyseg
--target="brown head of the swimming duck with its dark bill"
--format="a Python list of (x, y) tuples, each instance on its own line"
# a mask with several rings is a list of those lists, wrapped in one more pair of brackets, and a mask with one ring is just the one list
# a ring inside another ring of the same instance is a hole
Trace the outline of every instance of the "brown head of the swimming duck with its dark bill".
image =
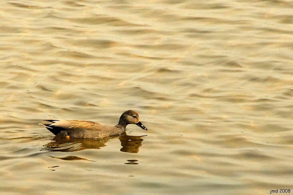
[(129, 125), (129, 124), (135, 124), (139, 126), (140, 128), (142, 128), (143, 130), (147, 131), (147, 128), (142, 124), (142, 122), (140, 122), (139, 115), (137, 114), (137, 112), (133, 110), (125, 111), (120, 116), (119, 123), (118, 123), (118, 125), (122, 125), (125, 127), (126, 125)]

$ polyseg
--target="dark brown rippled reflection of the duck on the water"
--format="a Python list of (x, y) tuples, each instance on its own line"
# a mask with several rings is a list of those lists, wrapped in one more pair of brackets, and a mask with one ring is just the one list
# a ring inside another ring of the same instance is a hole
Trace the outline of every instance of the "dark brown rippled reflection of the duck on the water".
[(143, 139), (142, 136), (129, 136), (126, 133), (116, 136), (116, 137), (107, 137), (103, 139), (64, 139), (59, 137), (54, 137), (49, 143), (44, 145), (43, 150), (49, 151), (61, 151), (61, 152), (73, 152), (80, 151), (85, 149), (100, 149), (104, 146), (107, 146), (106, 143), (110, 139), (119, 137), (122, 148), (122, 152), (138, 153), (139, 147), (142, 146)]

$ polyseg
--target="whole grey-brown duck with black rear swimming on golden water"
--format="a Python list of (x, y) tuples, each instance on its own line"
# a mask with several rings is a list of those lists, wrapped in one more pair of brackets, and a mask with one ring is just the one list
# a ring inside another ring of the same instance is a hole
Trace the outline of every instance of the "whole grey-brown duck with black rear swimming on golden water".
[(125, 132), (129, 124), (138, 125), (140, 128), (147, 130), (139, 120), (137, 112), (133, 110), (125, 111), (115, 126), (105, 126), (97, 122), (86, 120), (45, 120), (51, 124), (40, 124), (45, 126), (50, 132), (57, 137), (62, 138), (90, 138), (99, 139), (108, 136), (120, 135)]

